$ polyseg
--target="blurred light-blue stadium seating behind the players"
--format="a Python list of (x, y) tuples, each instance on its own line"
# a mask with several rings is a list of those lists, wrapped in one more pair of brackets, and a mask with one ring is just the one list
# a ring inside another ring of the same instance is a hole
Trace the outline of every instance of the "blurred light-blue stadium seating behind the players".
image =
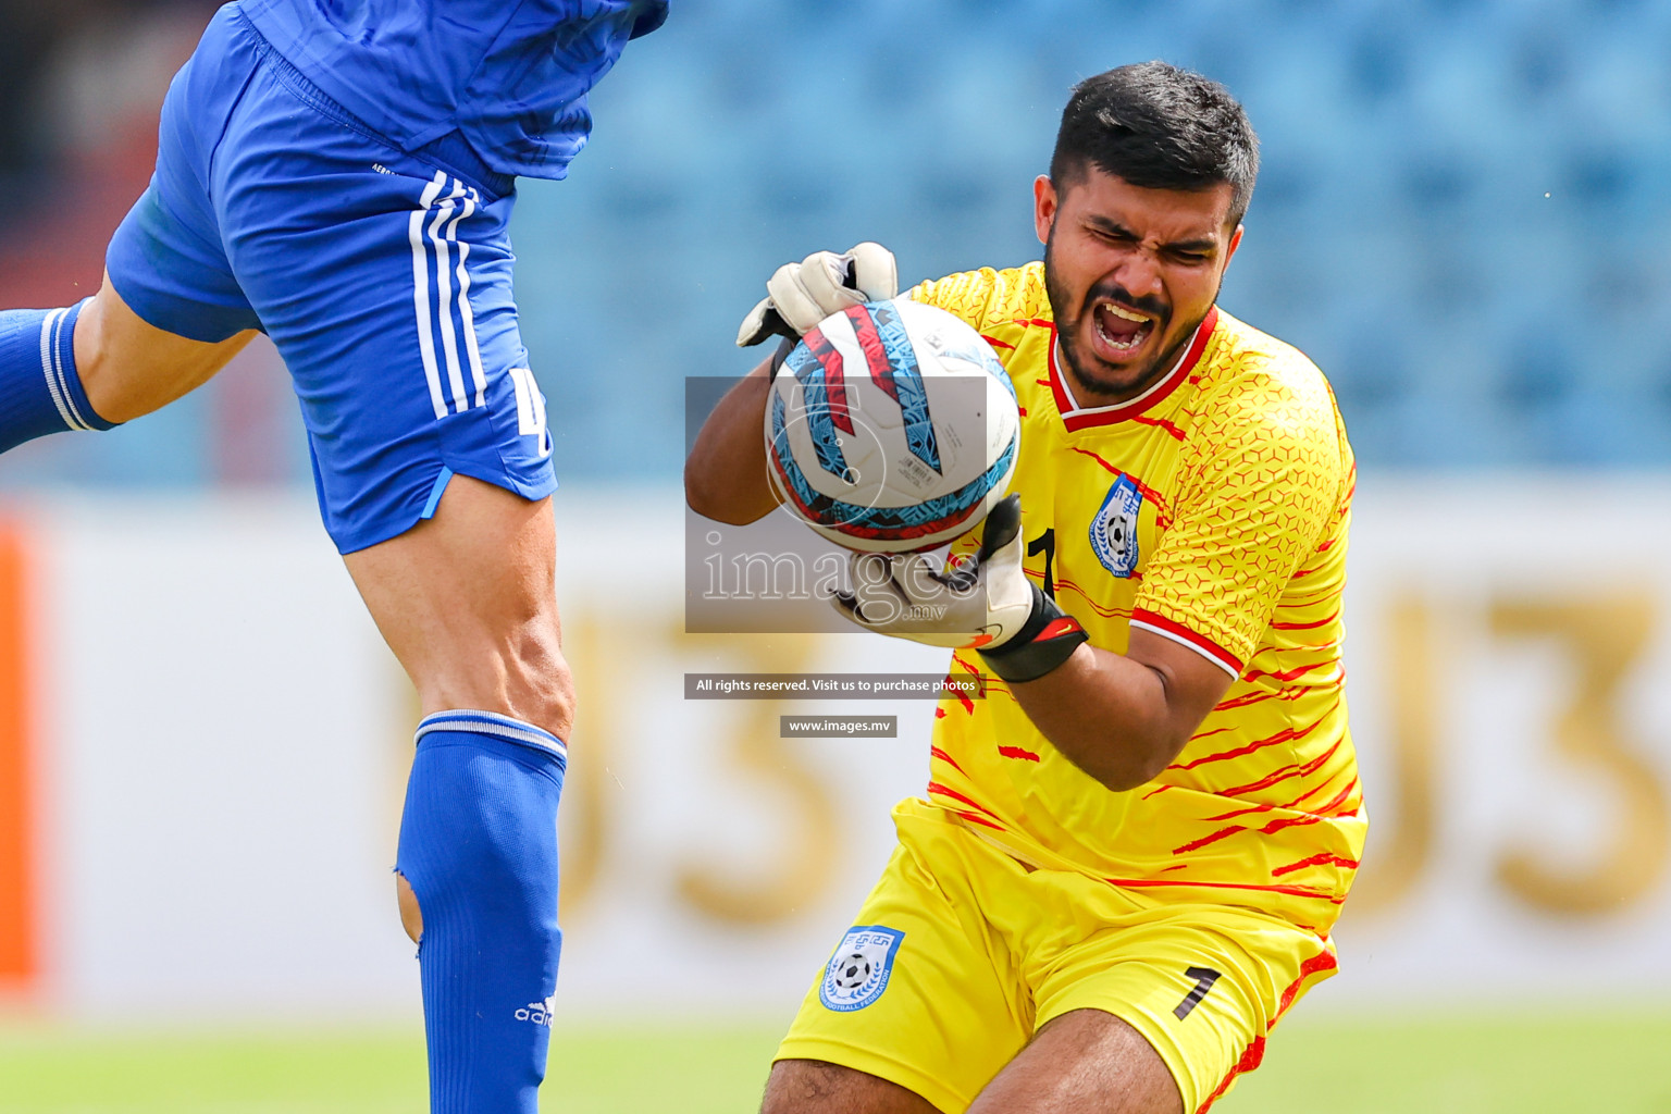
[[(682, 377), (747, 369), (735, 322), (790, 256), (1034, 257), (1068, 87), (1150, 57), (1248, 105), (1265, 169), (1223, 306), (1322, 364), (1365, 466), (1671, 463), (1671, 5), (735, 0), (675, 7), (571, 180), (523, 185), (560, 474), (675, 476)], [(110, 459), (207, 441), (212, 408), (182, 418)]]

